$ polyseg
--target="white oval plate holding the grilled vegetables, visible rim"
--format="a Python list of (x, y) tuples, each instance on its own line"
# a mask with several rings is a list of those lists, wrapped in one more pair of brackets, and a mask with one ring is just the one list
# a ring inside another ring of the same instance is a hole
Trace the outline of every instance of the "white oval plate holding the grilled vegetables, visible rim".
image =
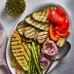
[[(32, 9), (29, 9), (29, 11), (27, 11), (27, 14), (26, 14), (25, 16), (27, 16), (27, 15), (33, 13), (33, 12), (36, 12), (36, 11), (42, 9), (42, 8), (51, 6), (51, 5), (55, 5), (55, 6), (61, 7), (59, 4), (56, 4), (56, 3), (44, 2), (44, 3), (41, 3), (41, 4), (37, 5), (36, 7), (32, 8)], [(61, 7), (61, 8), (64, 9), (63, 7)], [(64, 10), (65, 10), (65, 9), (64, 9)], [(30, 12), (30, 11), (31, 11), (31, 12)], [(68, 13), (67, 13), (67, 14), (68, 14)], [(69, 15), (68, 15), (68, 18), (70, 19)], [(18, 24), (17, 24), (17, 25), (18, 25)], [(16, 26), (17, 26), (17, 25), (16, 25)], [(16, 26), (15, 26), (15, 28), (16, 28)], [(13, 29), (13, 31), (15, 30), (15, 28)], [(70, 30), (71, 30), (71, 27), (70, 27)], [(13, 32), (13, 31), (12, 31), (12, 32)], [(11, 35), (12, 35), (12, 33), (11, 33)], [(8, 64), (8, 67), (9, 67), (11, 73), (12, 73), (12, 74), (16, 74), (16, 73), (15, 73), (15, 68), (12, 68), (11, 65), (10, 65), (10, 64), (11, 64), (11, 59), (12, 59), (12, 53), (11, 53), (11, 49), (10, 49), (10, 39), (11, 39), (11, 35), (10, 35), (10, 37), (9, 37), (8, 44), (7, 44), (6, 59), (7, 59), (7, 64)], [(70, 36), (69, 36), (69, 37), (70, 37)], [(68, 38), (68, 39), (69, 39), (69, 38)], [(60, 60), (54, 61), (53, 64), (51, 65), (48, 73), (49, 73), (50, 71), (52, 71), (53, 68), (56, 67), (56, 65), (57, 65), (59, 62), (60, 62)]]

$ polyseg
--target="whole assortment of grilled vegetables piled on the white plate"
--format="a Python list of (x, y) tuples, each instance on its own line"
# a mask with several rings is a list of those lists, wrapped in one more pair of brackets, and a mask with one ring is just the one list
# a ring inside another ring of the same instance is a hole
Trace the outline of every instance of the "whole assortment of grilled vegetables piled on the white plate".
[(65, 10), (48, 6), (27, 15), (10, 39), (11, 67), (16, 74), (43, 74), (70, 35)]

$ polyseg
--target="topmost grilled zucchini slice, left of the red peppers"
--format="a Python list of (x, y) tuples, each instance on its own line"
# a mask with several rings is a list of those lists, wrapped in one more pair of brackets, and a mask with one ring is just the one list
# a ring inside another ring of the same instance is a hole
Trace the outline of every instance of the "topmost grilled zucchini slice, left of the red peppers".
[(48, 19), (47, 19), (49, 11), (54, 10), (54, 9), (56, 9), (56, 7), (50, 6), (48, 8), (45, 8), (45, 9), (42, 9), (42, 10), (40, 10), (38, 12), (33, 13), (32, 17), (33, 17), (33, 19), (35, 19), (37, 21), (47, 23), (47, 22), (49, 22)]

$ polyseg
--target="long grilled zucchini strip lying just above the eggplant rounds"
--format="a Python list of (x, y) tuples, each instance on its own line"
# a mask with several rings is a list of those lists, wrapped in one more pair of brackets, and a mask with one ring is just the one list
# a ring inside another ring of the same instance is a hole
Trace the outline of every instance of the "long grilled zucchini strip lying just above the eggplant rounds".
[(32, 25), (32, 26), (34, 26), (34, 27), (36, 27), (36, 28), (38, 28), (40, 30), (46, 30), (46, 31), (48, 31), (48, 25), (49, 24), (40, 23), (40, 22), (32, 19), (31, 16), (27, 16), (25, 18), (25, 21), (26, 21), (26, 23), (28, 23), (28, 24), (30, 24), (30, 25)]

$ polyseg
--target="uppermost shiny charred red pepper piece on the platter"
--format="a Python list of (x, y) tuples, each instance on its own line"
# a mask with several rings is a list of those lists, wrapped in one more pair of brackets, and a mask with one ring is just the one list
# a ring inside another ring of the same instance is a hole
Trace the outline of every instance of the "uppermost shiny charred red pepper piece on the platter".
[(58, 26), (69, 24), (69, 20), (65, 17), (60, 16), (55, 10), (50, 10), (48, 14), (48, 20), (52, 21)]

